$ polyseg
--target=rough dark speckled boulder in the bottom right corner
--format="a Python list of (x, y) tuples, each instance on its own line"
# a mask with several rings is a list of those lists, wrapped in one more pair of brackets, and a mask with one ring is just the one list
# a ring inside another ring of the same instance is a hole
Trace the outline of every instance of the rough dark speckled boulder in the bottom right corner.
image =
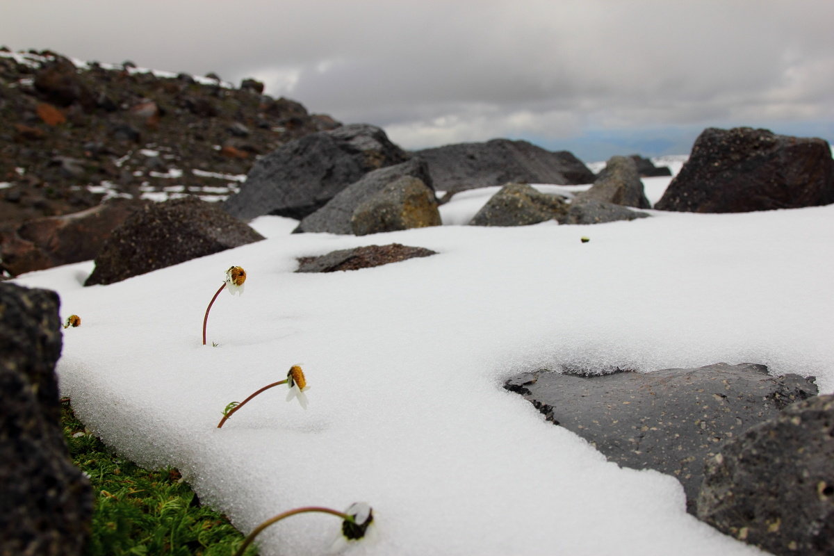
[(834, 396), (728, 440), (706, 461), (697, 515), (774, 554), (834, 554)]

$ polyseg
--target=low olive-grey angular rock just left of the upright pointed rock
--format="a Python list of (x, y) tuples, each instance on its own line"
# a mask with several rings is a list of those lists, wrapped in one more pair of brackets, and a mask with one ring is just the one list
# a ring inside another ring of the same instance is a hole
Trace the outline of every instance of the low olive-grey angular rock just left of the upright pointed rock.
[(470, 226), (527, 226), (563, 218), (564, 199), (540, 193), (526, 183), (508, 183), (472, 217)]

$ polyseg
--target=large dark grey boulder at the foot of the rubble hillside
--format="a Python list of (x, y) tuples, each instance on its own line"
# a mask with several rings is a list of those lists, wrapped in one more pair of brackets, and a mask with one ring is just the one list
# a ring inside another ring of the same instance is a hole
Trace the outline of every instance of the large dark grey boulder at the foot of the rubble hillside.
[(240, 192), (223, 205), (235, 218), (304, 218), (365, 173), (409, 156), (380, 128), (348, 125), (291, 141), (254, 164)]

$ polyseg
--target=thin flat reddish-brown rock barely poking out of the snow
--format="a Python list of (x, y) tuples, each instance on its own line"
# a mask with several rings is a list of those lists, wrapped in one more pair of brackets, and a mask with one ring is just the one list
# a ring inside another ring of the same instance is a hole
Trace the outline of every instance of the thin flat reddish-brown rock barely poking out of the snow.
[(436, 255), (435, 251), (421, 247), (408, 247), (400, 243), (366, 245), (352, 249), (340, 249), (320, 257), (299, 258), (297, 273), (334, 273), (339, 270), (379, 267), (399, 263), (409, 258)]

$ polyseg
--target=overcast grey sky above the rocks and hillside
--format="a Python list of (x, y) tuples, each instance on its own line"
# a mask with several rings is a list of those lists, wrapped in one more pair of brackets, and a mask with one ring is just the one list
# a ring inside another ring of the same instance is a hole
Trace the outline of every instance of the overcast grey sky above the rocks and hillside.
[(834, 140), (834, 1), (3, 0), (0, 44), (203, 75), (404, 148), (522, 138), (586, 162), (703, 128)]

